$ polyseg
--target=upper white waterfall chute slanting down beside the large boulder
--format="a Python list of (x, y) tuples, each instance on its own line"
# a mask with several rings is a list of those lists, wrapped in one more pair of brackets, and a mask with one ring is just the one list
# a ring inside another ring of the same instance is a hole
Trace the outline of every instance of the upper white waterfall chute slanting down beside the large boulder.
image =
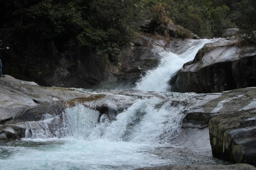
[[(181, 55), (169, 52), (162, 57), (159, 66), (154, 70), (149, 70), (144, 77), (142, 77), (134, 87), (135, 90), (148, 91), (169, 91), (170, 85), (168, 81), (178, 70), (180, 70), (184, 63), (191, 61), (196, 56), (199, 49), (204, 44), (217, 41), (217, 39), (201, 39), (191, 40), (191, 47)], [(196, 44), (195, 44), (196, 43)]]

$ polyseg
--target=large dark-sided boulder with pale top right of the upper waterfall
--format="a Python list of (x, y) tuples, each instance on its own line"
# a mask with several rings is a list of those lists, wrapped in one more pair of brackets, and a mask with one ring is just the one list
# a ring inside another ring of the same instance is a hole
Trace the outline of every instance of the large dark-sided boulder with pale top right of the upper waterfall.
[(205, 44), (191, 64), (178, 72), (180, 92), (209, 93), (256, 86), (256, 55), (236, 40)]

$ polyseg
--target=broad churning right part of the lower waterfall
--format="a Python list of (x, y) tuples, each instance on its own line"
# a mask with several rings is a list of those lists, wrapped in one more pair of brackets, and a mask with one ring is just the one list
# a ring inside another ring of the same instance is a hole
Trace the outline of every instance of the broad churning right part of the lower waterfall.
[[(184, 118), (183, 104), (172, 107), (166, 101), (158, 108), (157, 98), (140, 100), (126, 111), (117, 115), (116, 120), (103, 130), (91, 134), (90, 139), (101, 137), (134, 143), (162, 143), (174, 138)], [(98, 135), (101, 136), (98, 136)]]

